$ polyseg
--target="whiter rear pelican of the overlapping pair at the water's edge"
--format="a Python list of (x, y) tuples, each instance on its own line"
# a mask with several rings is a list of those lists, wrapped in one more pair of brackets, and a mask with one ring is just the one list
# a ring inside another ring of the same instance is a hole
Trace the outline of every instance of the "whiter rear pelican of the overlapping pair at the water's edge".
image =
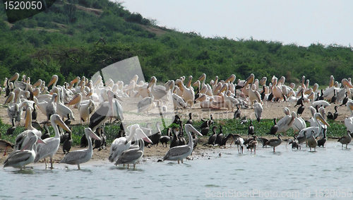
[(136, 132), (136, 129), (140, 129), (140, 126), (138, 124), (128, 126), (127, 129), (129, 131), (129, 135), (114, 139), (114, 141), (112, 142), (112, 146), (110, 146), (110, 155), (108, 159), (111, 163), (116, 162), (116, 160), (118, 160), (119, 158), (119, 155), (121, 155), (123, 151), (128, 150), (128, 148), (130, 148), (131, 140), (133, 139), (133, 136), (135, 134), (139, 134), (138, 136), (140, 136), (140, 138), (143, 138), (143, 140), (145, 140), (146, 142), (152, 143), (152, 141), (148, 139), (148, 136), (146, 136), (143, 131)]

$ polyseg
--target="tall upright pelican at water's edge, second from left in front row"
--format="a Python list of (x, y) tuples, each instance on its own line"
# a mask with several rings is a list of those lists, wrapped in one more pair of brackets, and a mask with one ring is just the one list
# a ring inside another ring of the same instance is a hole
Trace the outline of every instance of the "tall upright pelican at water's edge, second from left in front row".
[(52, 114), (50, 117), (50, 122), (52, 122), (52, 127), (55, 131), (55, 136), (51, 138), (44, 139), (46, 143), (39, 144), (37, 146), (37, 155), (35, 156), (35, 163), (44, 158), (45, 168), (47, 169), (47, 158), (50, 158), (50, 168), (53, 169), (53, 155), (58, 151), (60, 146), (60, 134), (59, 129), (56, 125), (59, 125), (61, 128), (65, 129), (68, 132), (71, 130), (66, 126), (66, 124), (60, 119), (59, 114)]

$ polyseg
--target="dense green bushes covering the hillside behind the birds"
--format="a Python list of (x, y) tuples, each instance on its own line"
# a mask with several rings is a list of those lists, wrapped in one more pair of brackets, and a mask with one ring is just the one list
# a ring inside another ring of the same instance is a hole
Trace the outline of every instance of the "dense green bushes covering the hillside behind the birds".
[[(14, 24), (0, 6), (0, 81), (13, 73), (31, 80), (59, 83), (92, 76), (100, 69), (138, 56), (145, 80), (159, 81), (193, 75), (227, 78), (285, 76), (328, 85), (353, 75), (352, 47), (295, 44), (259, 40), (205, 38), (158, 27), (155, 20), (131, 13), (108, 0), (58, 0), (48, 11)], [(102, 38), (103, 40), (100, 40)], [(208, 80), (209, 81), (209, 80)]]

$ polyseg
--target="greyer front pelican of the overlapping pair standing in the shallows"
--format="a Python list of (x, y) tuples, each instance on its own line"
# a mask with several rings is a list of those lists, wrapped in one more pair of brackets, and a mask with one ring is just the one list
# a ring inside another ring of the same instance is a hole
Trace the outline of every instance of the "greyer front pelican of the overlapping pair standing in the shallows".
[(133, 169), (136, 167), (136, 162), (140, 160), (143, 156), (143, 151), (145, 150), (145, 143), (143, 142), (144, 133), (142, 129), (136, 129), (136, 134), (140, 136), (138, 139), (139, 148), (132, 148), (123, 151), (119, 158), (116, 160), (115, 165), (119, 164), (133, 164)]

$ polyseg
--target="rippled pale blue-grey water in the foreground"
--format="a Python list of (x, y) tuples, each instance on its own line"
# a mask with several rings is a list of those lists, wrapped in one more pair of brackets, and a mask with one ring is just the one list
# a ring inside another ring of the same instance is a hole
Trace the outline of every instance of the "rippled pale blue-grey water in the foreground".
[(282, 143), (275, 153), (258, 148), (256, 155), (216, 149), (180, 165), (146, 160), (136, 170), (107, 161), (85, 163), (82, 170), (63, 164), (54, 170), (6, 167), (0, 170), (0, 199), (351, 199), (352, 146), (326, 146), (292, 151)]

